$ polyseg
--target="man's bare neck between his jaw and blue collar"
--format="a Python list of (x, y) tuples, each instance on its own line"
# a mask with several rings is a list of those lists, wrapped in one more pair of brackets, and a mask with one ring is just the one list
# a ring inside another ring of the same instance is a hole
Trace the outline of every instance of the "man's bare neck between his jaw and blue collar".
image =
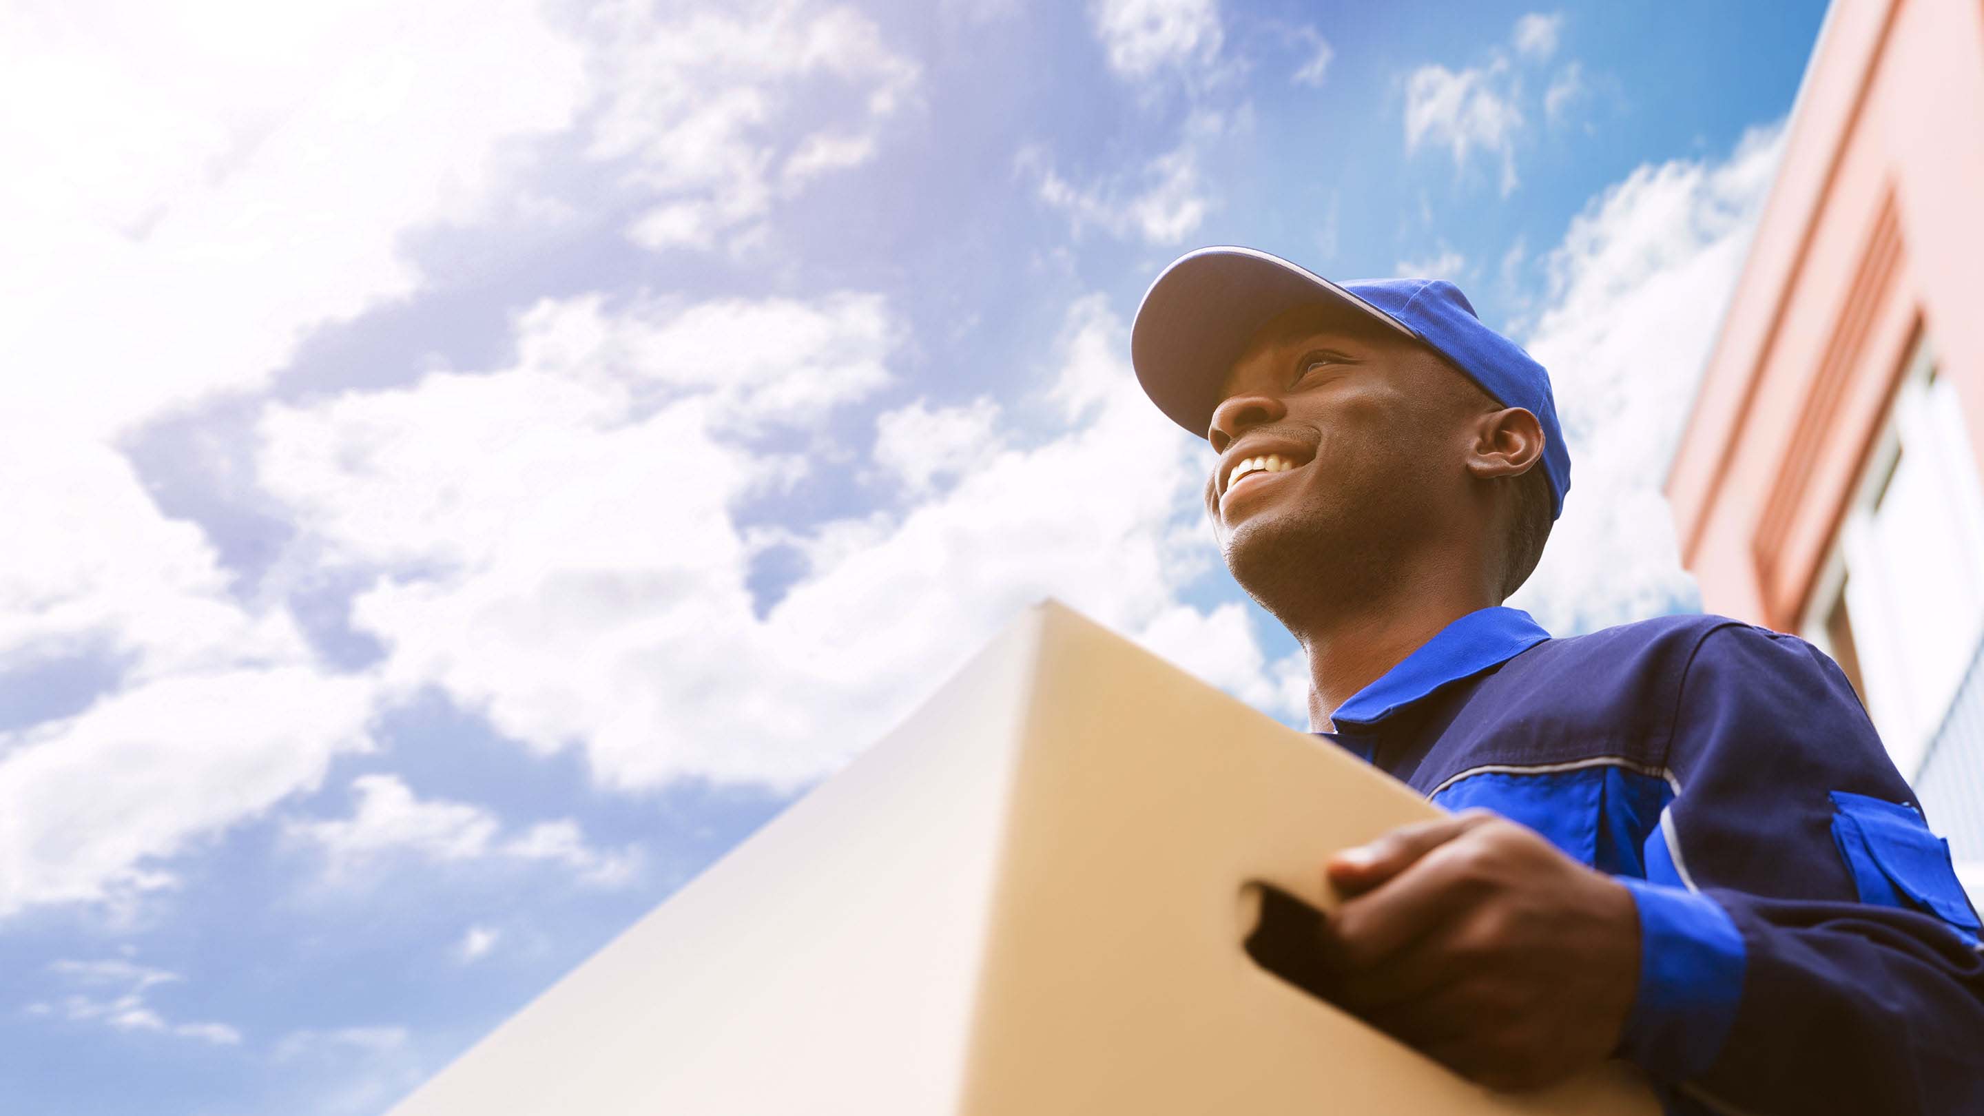
[(1309, 727), (1331, 731), (1337, 707), (1470, 612), (1494, 606), (1482, 594), (1413, 594), (1373, 602), (1290, 631), (1309, 659)]

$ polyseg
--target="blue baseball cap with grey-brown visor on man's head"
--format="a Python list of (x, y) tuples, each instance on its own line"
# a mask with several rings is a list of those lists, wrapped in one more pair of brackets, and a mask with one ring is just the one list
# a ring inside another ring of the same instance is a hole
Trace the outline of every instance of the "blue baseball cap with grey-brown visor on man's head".
[(1206, 437), (1226, 371), (1272, 318), (1298, 306), (1337, 306), (1426, 346), (1504, 407), (1544, 427), (1544, 477), (1563, 514), (1571, 455), (1557, 425), (1550, 373), (1522, 346), (1482, 326), (1446, 280), (1393, 278), (1333, 284), (1254, 248), (1198, 248), (1171, 262), (1137, 308), (1129, 357), (1145, 395), (1175, 423)]

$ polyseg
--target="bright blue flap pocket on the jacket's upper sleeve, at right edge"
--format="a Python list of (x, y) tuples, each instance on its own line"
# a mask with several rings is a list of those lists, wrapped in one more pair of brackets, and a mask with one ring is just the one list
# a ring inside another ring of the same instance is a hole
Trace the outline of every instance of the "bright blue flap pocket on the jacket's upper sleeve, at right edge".
[(1833, 790), (1833, 844), (1863, 904), (1932, 913), (1978, 941), (1978, 913), (1950, 864), (1950, 844), (1913, 806)]

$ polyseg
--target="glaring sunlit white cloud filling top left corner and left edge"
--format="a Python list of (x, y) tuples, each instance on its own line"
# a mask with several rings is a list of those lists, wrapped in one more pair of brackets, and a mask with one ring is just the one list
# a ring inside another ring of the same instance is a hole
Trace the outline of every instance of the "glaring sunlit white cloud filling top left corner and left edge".
[(407, 234), (504, 214), (522, 145), (583, 93), (532, 0), (0, 10), (0, 97), (32, 105), (0, 117), (0, 349), (32, 369), (0, 415), (0, 669), (125, 667), (0, 737), (0, 917), (167, 886), (161, 862), (367, 747), (369, 681), (236, 600), (117, 439), (413, 294)]

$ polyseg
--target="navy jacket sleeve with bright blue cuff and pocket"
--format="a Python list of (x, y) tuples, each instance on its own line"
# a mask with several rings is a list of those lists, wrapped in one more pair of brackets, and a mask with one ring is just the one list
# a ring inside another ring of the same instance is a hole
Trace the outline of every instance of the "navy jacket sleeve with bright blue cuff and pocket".
[(1839, 667), (1732, 622), (1673, 723), (1623, 1043), (1669, 1110), (1984, 1112), (1978, 917)]

